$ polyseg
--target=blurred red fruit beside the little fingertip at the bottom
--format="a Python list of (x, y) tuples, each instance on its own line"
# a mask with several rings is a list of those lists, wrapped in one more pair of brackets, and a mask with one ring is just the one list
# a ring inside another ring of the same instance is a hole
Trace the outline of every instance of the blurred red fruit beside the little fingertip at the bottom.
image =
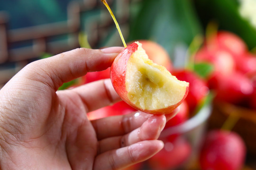
[(165, 141), (165, 147), (147, 162), (150, 170), (172, 170), (182, 166), (192, 152), (191, 144), (183, 137)]

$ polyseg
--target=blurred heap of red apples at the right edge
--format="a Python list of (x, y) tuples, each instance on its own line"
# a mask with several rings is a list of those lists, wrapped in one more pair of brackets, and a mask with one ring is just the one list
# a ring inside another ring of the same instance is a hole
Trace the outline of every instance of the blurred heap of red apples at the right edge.
[(208, 36), (195, 62), (213, 66), (206, 80), (216, 100), (256, 109), (256, 54), (240, 37), (227, 31)]

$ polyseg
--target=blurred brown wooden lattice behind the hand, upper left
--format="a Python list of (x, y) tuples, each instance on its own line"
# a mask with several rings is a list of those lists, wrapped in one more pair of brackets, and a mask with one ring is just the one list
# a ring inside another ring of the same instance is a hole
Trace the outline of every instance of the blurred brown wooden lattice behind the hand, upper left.
[[(130, 0), (108, 0), (114, 6), (119, 25), (128, 34), (128, 17)], [(84, 25), (83, 17), (89, 11), (98, 10), (98, 16), (87, 18)], [(80, 47), (78, 34), (86, 31), (92, 48), (99, 48), (100, 42), (109, 36), (115, 26), (110, 14), (101, 0), (84, 0), (71, 2), (67, 7), (67, 21), (32, 26), (19, 29), (8, 29), (8, 13), (0, 12), (0, 84), (6, 83), (21, 68), (32, 60), (38, 59), (43, 53), (56, 54)], [(83, 28), (84, 27), (84, 28)], [(52, 41), (56, 36), (66, 35), (64, 41)], [(110, 45), (121, 45), (119, 36)], [(113, 38), (112, 38), (113, 41)], [(15, 44), (26, 44), (19, 48), (12, 48)]]

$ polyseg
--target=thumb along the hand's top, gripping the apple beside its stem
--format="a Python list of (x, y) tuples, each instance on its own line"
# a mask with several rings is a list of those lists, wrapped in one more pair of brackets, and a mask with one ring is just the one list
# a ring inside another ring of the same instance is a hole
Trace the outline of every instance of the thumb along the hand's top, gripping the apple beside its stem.
[[(52, 86), (55, 90), (65, 82), (85, 75), (90, 71), (101, 71), (111, 66), (122, 47), (103, 50), (78, 48), (47, 59), (30, 63), (25, 76)], [(29, 73), (29, 74), (28, 74)]]

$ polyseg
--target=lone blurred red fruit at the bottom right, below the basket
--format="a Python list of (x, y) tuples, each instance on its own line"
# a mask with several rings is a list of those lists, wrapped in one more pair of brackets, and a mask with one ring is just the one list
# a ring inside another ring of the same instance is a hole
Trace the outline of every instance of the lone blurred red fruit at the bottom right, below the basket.
[(212, 130), (208, 132), (200, 152), (201, 170), (241, 170), (246, 146), (234, 132)]

